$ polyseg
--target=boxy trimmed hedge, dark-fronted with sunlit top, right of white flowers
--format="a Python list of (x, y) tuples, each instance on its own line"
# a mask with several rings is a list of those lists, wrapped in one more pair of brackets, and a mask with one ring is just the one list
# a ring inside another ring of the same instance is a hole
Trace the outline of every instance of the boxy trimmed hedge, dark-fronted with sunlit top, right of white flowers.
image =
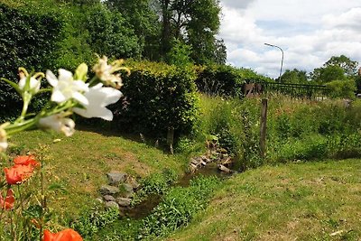
[(125, 66), (131, 75), (123, 79), (125, 98), (116, 107), (116, 125), (156, 138), (165, 137), (171, 127), (175, 137), (190, 134), (199, 116), (195, 71), (149, 61)]

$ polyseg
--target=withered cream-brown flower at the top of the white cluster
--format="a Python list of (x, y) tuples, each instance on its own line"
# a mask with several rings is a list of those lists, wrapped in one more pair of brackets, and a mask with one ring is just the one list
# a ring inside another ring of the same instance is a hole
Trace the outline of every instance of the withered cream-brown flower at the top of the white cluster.
[(97, 75), (98, 79), (101, 79), (106, 86), (112, 86), (114, 88), (122, 87), (122, 79), (120, 74), (116, 73), (119, 70), (126, 70), (128, 73), (130, 70), (122, 66), (124, 60), (115, 60), (111, 64), (107, 64), (106, 56), (99, 59), (97, 64), (94, 65), (93, 70)]

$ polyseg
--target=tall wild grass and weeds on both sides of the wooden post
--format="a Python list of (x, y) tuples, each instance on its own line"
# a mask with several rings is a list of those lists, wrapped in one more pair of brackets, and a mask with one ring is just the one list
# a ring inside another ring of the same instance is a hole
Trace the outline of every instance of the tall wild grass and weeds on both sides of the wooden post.
[(200, 97), (198, 143), (209, 136), (227, 149), (240, 169), (264, 162), (310, 161), (361, 156), (361, 101), (269, 98), (266, 158), (260, 157), (259, 98)]

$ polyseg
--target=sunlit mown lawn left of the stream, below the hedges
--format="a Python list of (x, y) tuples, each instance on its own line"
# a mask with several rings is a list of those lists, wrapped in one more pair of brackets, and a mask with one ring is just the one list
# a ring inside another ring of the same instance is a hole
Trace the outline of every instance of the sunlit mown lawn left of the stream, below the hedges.
[[(53, 143), (53, 140), (60, 142)], [(62, 218), (77, 217), (92, 207), (100, 196), (98, 189), (107, 184), (107, 171), (125, 171), (134, 177), (148, 176), (169, 168), (177, 173), (184, 169), (181, 158), (134, 142), (124, 137), (77, 130), (71, 137), (42, 131), (12, 136), (9, 149), (18, 153), (39, 153), (46, 144), (45, 171), (47, 186), (52, 188), (48, 206)]]

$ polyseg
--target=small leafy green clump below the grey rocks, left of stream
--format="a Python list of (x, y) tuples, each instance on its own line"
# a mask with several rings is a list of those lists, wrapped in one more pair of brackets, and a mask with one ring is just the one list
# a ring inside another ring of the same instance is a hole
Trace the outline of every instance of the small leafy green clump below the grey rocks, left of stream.
[(88, 238), (96, 234), (102, 227), (114, 222), (118, 217), (119, 209), (89, 209), (80, 218), (71, 222), (70, 227), (78, 231), (82, 237)]

